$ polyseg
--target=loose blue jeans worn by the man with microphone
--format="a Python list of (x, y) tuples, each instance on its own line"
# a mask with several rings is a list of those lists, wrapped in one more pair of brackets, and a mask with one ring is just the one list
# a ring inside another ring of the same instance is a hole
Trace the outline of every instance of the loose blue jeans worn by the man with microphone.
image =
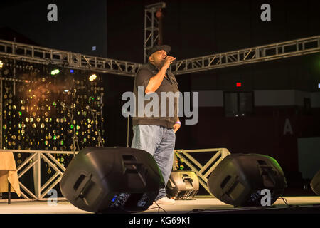
[[(174, 129), (164, 128), (159, 125), (134, 125), (132, 148), (149, 152), (161, 170), (164, 184), (168, 183), (174, 162), (174, 144), (176, 134)], [(166, 196), (166, 189), (160, 188), (155, 200)]]

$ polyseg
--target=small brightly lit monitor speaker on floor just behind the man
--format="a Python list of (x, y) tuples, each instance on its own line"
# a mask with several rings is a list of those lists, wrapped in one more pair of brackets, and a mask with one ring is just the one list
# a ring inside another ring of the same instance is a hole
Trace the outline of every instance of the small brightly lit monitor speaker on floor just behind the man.
[(195, 172), (177, 170), (172, 171), (166, 195), (174, 199), (192, 199), (199, 190), (199, 180)]

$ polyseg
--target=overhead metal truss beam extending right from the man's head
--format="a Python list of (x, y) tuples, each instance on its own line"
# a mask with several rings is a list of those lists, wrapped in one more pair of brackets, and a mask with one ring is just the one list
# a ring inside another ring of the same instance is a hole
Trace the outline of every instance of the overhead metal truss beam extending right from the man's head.
[(247, 63), (271, 61), (279, 58), (302, 56), (316, 52), (320, 52), (320, 36), (272, 43), (265, 46), (218, 53), (210, 56), (187, 58), (172, 63), (170, 69), (172, 73), (179, 75)]

